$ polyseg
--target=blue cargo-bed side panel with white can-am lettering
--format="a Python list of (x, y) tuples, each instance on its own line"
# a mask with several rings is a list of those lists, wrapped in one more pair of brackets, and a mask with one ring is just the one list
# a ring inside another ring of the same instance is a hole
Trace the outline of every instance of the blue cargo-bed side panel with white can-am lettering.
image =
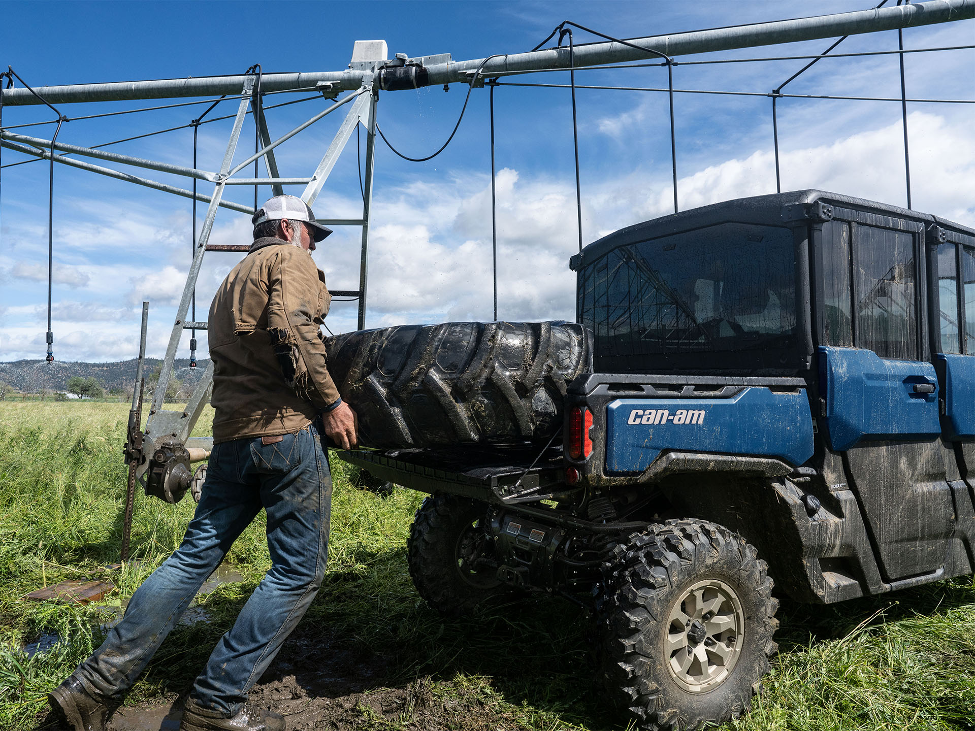
[(619, 399), (606, 405), (607, 473), (641, 473), (664, 449), (800, 465), (813, 452), (809, 401), (804, 390), (782, 394), (751, 387), (729, 399)]

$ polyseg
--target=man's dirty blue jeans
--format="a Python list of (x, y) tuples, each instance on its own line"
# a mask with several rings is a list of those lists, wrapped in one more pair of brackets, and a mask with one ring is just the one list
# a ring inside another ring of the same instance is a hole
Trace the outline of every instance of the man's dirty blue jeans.
[(122, 621), (75, 676), (108, 696), (132, 687), (261, 508), (271, 568), (220, 637), (190, 693), (220, 715), (239, 712), (325, 575), (331, 474), (317, 423), (281, 442), (265, 444), (258, 437), (215, 444), (200, 504), (179, 549), (138, 588)]

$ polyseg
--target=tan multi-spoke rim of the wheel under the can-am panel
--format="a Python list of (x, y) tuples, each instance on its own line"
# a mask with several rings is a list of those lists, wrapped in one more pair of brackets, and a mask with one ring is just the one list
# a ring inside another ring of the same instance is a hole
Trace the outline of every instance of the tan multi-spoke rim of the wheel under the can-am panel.
[(671, 607), (664, 635), (667, 669), (684, 690), (714, 690), (734, 670), (744, 635), (737, 593), (720, 579), (699, 581)]

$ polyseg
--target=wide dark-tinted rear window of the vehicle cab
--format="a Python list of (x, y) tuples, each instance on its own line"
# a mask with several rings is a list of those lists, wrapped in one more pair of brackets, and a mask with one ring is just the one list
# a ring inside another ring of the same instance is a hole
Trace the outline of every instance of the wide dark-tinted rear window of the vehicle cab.
[(619, 355), (785, 348), (796, 332), (787, 228), (722, 223), (620, 247), (579, 278), (582, 322)]

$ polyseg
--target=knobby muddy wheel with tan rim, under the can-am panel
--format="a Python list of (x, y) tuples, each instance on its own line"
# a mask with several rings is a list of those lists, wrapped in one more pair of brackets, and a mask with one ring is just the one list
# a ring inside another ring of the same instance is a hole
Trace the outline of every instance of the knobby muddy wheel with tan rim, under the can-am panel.
[(597, 651), (617, 710), (652, 731), (746, 712), (778, 651), (766, 568), (743, 538), (703, 520), (669, 520), (617, 545), (597, 598)]

